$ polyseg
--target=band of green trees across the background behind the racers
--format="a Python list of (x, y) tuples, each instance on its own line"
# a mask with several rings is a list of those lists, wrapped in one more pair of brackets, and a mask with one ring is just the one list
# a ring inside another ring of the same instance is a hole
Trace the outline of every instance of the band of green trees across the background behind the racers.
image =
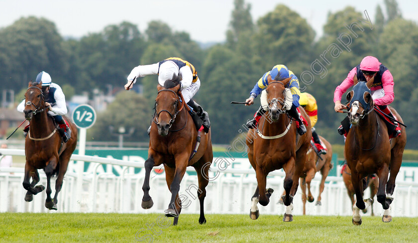
[[(333, 111), (333, 92), (364, 56), (372, 55), (394, 76), (392, 106), (410, 125), (407, 147), (418, 148), (418, 128), (412, 125), (418, 114), (418, 26), (402, 17), (396, 0), (384, 3), (384, 9), (347, 6), (329, 12), (323, 35), (315, 39), (307, 20), (284, 4), (254, 21), (251, 5), (235, 0), (226, 41), (209, 48), (161, 21), (149, 22), (144, 32), (122, 22), (73, 39), (62, 37), (48, 19), (22, 17), (0, 29), (1, 89), (20, 92), (17, 99), (21, 99), (28, 81), (45, 70), (69, 99), (83, 92), (92, 94), (96, 88), (104, 91), (106, 85), (122, 89), (133, 67), (181, 57), (196, 67), (202, 81), (195, 100), (209, 113), (213, 142), (230, 143), (252, 118), (259, 100), (251, 107), (230, 101), (244, 101), (265, 72), (285, 64), (299, 77), (301, 90), (316, 98), (317, 131), (331, 143), (343, 143), (336, 132), (343, 115)], [(106, 132), (109, 126), (124, 125), (135, 128), (126, 139), (148, 140), (157, 77), (140, 78), (137, 84), (143, 93), (118, 93), (108, 109), (98, 114), (90, 139), (114, 140)]]

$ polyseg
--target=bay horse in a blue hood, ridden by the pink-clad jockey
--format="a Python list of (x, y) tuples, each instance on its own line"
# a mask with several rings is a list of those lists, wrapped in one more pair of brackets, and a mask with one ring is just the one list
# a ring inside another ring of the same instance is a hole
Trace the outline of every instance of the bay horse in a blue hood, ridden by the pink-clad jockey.
[[(354, 83), (356, 81), (355, 78)], [(407, 142), (405, 127), (402, 127), (399, 136), (390, 140), (386, 123), (377, 112), (373, 112), (373, 98), (370, 91), (373, 81), (374, 77), (367, 83), (358, 82), (347, 94), (347, 101), (350, 102), (348, 118), (352, 127), (345, 141), (345, 156), (356, 194), (352, 219), (354, 225), (362, 223), (359, 210), (365, 209), (366, 204), (367, 207), (371, 205), (371, 199), (363, 200), (365, 189), (363, 178), (372, 174), (377, 174), (379, 178), (377, 201), (384, 209), (382, 221), (385, 223), (392, 221), (390, 206)], [(403, 122), (396, 110), (389, 108), (397, 120)]]

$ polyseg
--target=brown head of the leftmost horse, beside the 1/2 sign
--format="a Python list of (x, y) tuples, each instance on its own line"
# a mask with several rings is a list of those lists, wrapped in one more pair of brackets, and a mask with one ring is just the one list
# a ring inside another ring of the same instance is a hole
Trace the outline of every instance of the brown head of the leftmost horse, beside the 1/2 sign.
[(42, 81), (40, 83), (29, 81), (29, 87), (25, 93), (25, 104), (23, 113), (27, 121), (32, 119), (32, 115), (43, 112), (45, 97), (42, 92)]

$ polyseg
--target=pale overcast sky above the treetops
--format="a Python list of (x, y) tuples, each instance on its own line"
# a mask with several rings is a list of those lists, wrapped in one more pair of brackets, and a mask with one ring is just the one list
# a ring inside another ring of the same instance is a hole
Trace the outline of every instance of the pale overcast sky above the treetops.
[[(384, 0), (245, 0), (251, 4), (254, 21), (283, 3), (307, 19), (316, 38), (329, 11), (352, 5), (357, 11), (367, 10), (372, 23), (376, 6)], [(418, 1), (398, 0), (403, 17), (418, 21)], [(45, 17), (54, 22), (64, 37), (82, 37), (97, 33), (109, 24), (128, 21), (143, 33), (152, 20), (167, 23), (173, 31), (185, 31), (199, 42), (222, 42), (228, 29), (233, 0), (0, 0), (0, 28), (20, 17)]]

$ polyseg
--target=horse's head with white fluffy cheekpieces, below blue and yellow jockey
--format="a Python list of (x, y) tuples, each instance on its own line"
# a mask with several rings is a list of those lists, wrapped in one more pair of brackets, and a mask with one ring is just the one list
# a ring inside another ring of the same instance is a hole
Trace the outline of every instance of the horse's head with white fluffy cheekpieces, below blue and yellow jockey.
[[(265, 99), (267, 101), (270, 119), (272, 121), (277, 121), (279, 120), (280, 114), (284, 114), (286, 112), (286, 101), (289, 99), (292, 101), (292, 94), (290, 93), (290, 90), (288, 91), (288, 89), (285, 88), (285, 86), (291, 80), (291, 77), (285, 80), (277, 81), (272, 80), (271, 76), (269, 75), (267, 80), (269, 85), (266, 88)], [(266, 105), (263, 105), (263, 107), (265, 106)]]

